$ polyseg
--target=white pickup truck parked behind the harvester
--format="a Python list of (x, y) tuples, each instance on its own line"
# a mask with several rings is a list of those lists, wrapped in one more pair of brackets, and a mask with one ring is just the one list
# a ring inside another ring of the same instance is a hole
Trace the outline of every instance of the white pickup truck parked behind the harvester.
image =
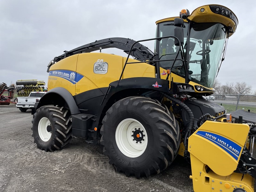
[(28, 97), (18, 97), (16, 99), (16, 107), (20, 109), (21, 112), (26, 112), (28, 109), (34, 107), (35, 103), (40, 100), (40, 98), (46, 92), (31, 92)]

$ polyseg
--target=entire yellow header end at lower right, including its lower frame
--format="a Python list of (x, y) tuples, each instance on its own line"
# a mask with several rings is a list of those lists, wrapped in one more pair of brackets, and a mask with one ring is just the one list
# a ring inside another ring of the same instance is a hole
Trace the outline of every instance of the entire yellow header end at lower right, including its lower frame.
[[(189, 137), (195, 192), (233, 191), (240, 185), (247, 192), (253, 191), (254, 181), (250, 175), (234, 173), (249, 129), (247, 124), (206, 121)], [(225, 183), (230, 188), (226, 188)]]

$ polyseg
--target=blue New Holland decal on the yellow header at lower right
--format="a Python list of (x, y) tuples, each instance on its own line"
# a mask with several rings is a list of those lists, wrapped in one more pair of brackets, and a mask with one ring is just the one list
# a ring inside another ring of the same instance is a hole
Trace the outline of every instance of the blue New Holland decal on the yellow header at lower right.
[(198, 131), (196, 135), (200, 135), (201, 137), (212, 141), (214, 144), (224, 149), (229, 155), (234, 157), (234, 159), (238, 160), (242, 147), (237, 145), (233, 141), (220, 135), (205, 131)]

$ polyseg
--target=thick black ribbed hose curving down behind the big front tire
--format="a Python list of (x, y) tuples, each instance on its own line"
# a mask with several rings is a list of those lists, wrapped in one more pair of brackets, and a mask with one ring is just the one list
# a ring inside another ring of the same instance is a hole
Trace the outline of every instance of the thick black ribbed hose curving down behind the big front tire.
[(186, 160), (189, 159), (189, 153), (188, 153), (188, 137), (191, 135), (192, 130), (194, 130), (194, 115), (191, 111), (191, 109), (183, 102), (181, 102), (180, 100), (162, 92), (162, 94), (164, 95), (164, 97), (166, 97), (167, 99), (171, 100), (172, 102), (178, 104), (181, 108), (183, 108), (187, 113), (188, 113), (188, 117), (189, 117), (189, 124), (187, 126), (187, 132), (185, 135), (185, 140), (184, 140), (184, 146), (185, 146), (185, 151), (184, 151), (184, 158)]

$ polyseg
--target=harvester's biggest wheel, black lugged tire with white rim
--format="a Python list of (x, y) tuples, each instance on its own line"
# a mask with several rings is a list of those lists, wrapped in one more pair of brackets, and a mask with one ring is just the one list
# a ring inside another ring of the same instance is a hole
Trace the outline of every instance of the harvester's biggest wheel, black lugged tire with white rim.
[(100, 130), (101, 144), (117, 172), (148, 177), (172, 163), (180, 130), (174, 115), (165, 111), (165, 106), (146, 97), (128, 97), (108, 109)]

